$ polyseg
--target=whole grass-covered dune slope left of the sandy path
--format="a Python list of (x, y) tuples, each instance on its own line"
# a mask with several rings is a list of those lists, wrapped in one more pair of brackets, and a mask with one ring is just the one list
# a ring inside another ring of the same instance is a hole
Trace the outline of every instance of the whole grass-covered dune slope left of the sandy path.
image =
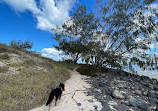
[(75, 68), (5, 44), (0, 44), (0, 55), (0, 111), (26, 111), (45, 104), (49, 92)]

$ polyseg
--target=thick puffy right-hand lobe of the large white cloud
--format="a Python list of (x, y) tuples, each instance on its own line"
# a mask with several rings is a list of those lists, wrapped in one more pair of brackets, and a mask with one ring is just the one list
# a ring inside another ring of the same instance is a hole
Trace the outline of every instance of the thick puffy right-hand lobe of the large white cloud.
[(52, 27), (62, 25), (66, 18), (69, 17), (69, 11), (72, 9), (74, 2), (72, 0), (41, 0), (40, 6), (42, 12), (37, 16), (37, 28), (50, 30)]

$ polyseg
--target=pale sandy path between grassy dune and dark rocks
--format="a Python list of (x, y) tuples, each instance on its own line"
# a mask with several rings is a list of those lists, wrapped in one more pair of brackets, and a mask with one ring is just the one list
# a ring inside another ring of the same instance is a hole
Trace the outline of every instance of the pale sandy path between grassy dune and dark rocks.
[[(95, 111), (94, 105), (97, 105), (97, 111), (101, 110), (101, 103), (98, 102), (93, 96), (87, 96), (85, 92), (87, 90), (84, 88), (90, 88), (91, 86), (87, 84), (84, 80), (86, 76), (80, 75), (76, 71), (71, 72), (71, 78), (65, 82), (66, 91), (64, 94), (71, 93), (75, 90), (85, 90), (85, 91), (76, 91), (74, 99), (77, 103), (81, 103), (81, 106), (78, 106), (76, 102), (72, 99), (74, 93), (64, 95), (61, 97), (61, 100), (57, 102), (57, 106), (54, 106), (54, 102), (51, 104), (50, 111)], [(93, 100), (89, 102), (88, 100)], [(30, 111), (48, 111), (48, 106), (41, 106)]]

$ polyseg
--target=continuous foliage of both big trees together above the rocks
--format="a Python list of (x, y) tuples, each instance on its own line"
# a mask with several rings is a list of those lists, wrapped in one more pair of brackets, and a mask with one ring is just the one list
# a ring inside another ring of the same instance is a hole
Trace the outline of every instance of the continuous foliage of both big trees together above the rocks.
[[(80, 6), (62, 28), (56, 27), (56, 49), (87, 64), (134, 71), (158, 69), (156, 0), (97, 0), (95, 14)], [(147, 15), (147, 13), (151, 13)], [(97, 18), (95, 17), (97, 15)]]

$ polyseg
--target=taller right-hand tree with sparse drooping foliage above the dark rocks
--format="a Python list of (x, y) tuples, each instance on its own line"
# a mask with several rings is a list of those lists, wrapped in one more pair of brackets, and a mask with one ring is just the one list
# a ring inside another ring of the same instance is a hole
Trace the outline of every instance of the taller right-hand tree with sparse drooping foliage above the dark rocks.
[[(101, 66), (134, 70), (132, 64), (142, 69), (158, 69), (157, 56), (149, 53), (157, 43), (156, 0), (97, 0), (97, 16), (103, 45), (96, 59)], [(110, 41), (110, 42), (107, 42)]]

